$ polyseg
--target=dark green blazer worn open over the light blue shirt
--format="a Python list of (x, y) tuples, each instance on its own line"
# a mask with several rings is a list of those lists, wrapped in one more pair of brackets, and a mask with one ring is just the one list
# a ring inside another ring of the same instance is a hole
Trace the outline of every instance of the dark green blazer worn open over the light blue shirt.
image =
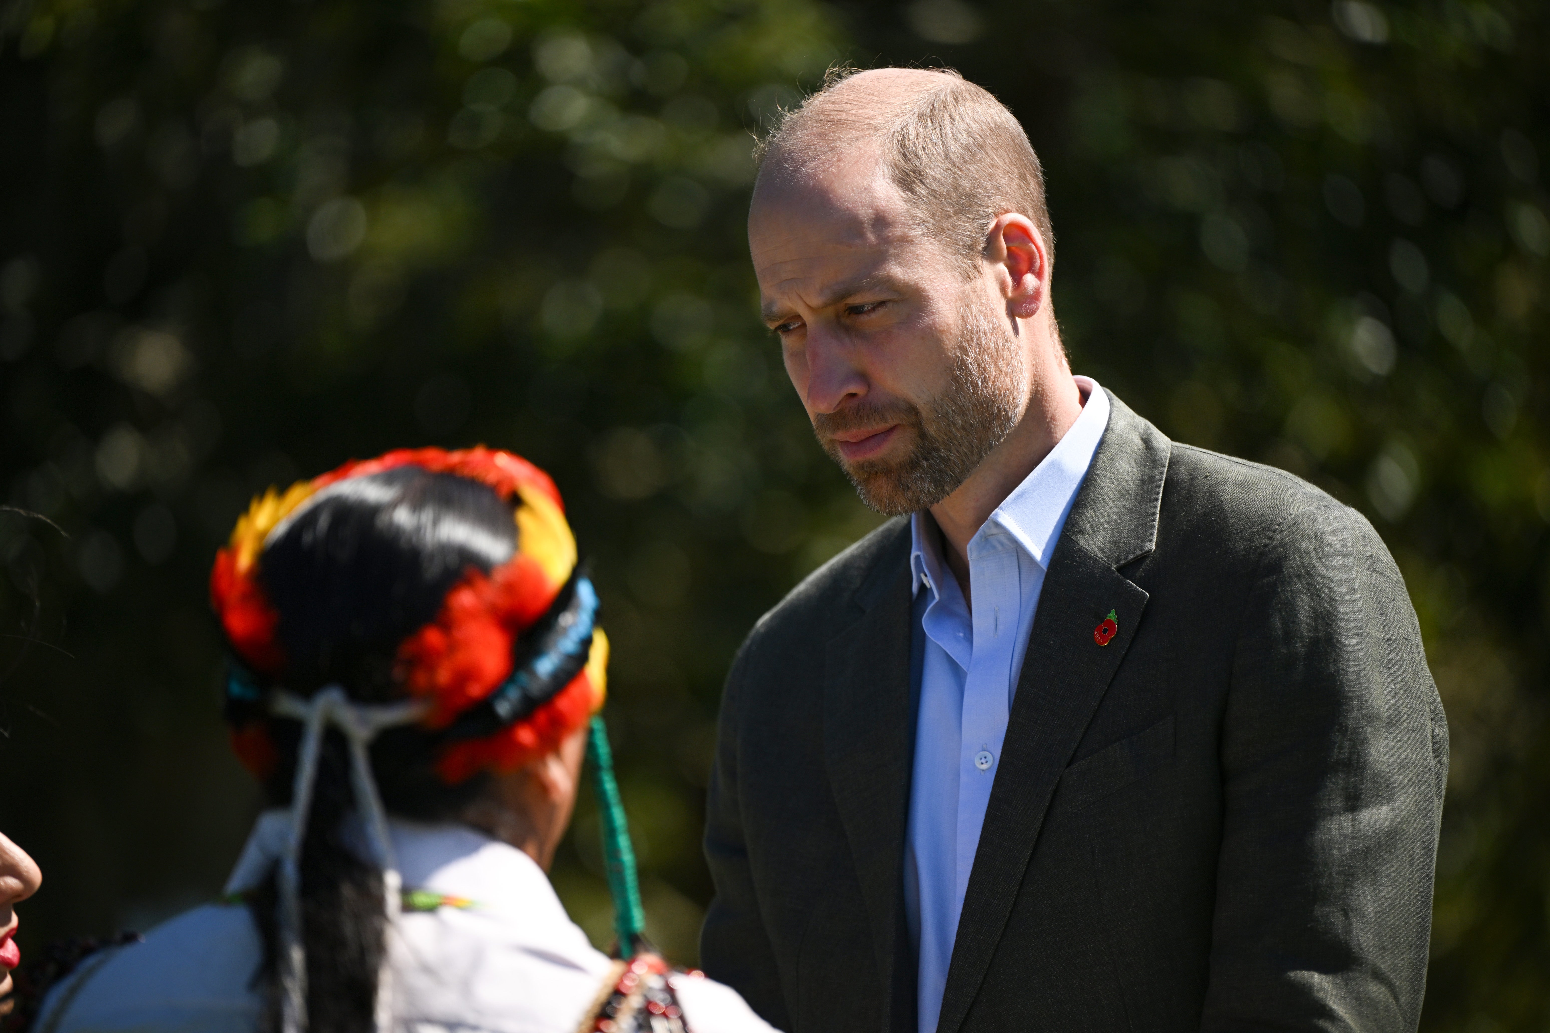
[[(1111, 404), (938, 1030), (1414, 1030), (1448, 726), (1404, 581), (1355, 510)], [(826, 564), (727, 678), (702, 963), (783, 1030), (914, 1030), (908, 551)]]

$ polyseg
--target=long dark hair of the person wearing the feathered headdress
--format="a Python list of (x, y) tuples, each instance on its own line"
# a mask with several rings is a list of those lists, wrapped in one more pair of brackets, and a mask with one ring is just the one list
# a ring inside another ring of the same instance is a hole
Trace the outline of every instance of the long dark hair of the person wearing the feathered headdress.
[[(312, 695), (339, 685), (361, 702), (403, 695), (395, 678), (400, 643), (431, 621), (470, 568), (488, 573), (516, 548), (513, 506), (491, 488), (418, 466), (339, 480), (308, 499), (264, 544), (260, 579), (279, 615), (284, 688)], [(301, 726), (268, 720), (277, 760), (268, 801), (290, 804)], [(392, 813), (448, 819), (485, 788), (485, 776), (446, 785), (436, 776), (432, 740), (394, 728), (372, 743), (372, 770)], [(370, 1033), (384, 943), (381, 872), (347, 843), (349, 753), (330, 731), (301, 853), (307, 1013), (313, 1030)], [(276, 875), (248, 895), (264, 940), (256, 976), (265, 993), (264, 1028), (279, 1028)]]

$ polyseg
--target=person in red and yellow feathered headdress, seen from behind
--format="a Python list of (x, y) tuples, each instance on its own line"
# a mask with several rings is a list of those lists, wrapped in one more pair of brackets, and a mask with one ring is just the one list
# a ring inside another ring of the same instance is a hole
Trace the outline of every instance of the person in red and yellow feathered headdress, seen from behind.
[[(646, 945), (606, 734), (608, 640), (560, 492), (485, 448), (271, 489), (211, 573), (232, 746), (271, 804), (223, 903), (88, 957), (36, 1028), (767, 1031)], [(618, 959), (546, 870), (583, 754)]]

